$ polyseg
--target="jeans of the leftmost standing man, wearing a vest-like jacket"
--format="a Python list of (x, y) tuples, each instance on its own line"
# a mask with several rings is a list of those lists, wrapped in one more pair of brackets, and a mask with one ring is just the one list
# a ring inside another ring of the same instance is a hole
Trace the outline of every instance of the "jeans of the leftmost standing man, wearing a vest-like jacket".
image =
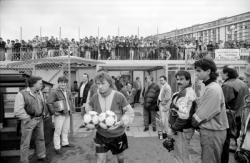
[(20, 162), (29, 163), (29, 147), (33, 131), (35, 132), (36, 154), (38, 158), (46, 157), (46, 148), (44, 141), (43, 119), (35, 117), (21, 121), (21, 144), (20, 144)]

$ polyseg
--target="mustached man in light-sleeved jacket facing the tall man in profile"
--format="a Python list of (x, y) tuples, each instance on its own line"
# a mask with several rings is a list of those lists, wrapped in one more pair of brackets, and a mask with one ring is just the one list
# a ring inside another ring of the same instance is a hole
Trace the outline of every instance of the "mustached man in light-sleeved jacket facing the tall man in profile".
[(169, 125), (172, 129), (171, 140), (176, 162), (191, 163), (188, 146), (194, 134), (191, 117), (194, 112), (195, 91), (192, 88), (191, 75), (187, 71), (178, 71), (175, 75), (179, 91), (172, 96), (169, 111)]

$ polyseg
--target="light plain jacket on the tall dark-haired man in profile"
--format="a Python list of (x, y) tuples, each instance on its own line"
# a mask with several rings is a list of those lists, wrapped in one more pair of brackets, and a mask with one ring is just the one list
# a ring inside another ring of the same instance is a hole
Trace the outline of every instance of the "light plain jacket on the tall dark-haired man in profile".
[(198, 124), (200, 129), (214, 131), (226, 130), (229, 127), (224, 94), (218, 83), (208, 83), (203, 95), (196, 102), (197, 110), (192, 121), (194, 127)]

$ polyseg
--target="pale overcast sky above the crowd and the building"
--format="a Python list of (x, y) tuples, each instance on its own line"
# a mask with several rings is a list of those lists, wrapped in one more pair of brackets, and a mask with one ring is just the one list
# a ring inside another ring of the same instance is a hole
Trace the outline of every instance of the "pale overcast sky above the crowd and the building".
[(0, 0), (0, 35), (145, 37), (249, 11), (250, 0)]

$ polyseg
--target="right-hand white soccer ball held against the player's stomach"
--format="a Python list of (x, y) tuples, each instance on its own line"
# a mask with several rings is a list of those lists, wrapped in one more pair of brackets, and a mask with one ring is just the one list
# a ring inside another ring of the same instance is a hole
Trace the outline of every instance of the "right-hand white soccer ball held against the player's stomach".
[(103, 129), (108, 129), (114, 126), (117, 122), (117, 116), (114, 112), (108, 110), (99, 115), (99, 126)]

